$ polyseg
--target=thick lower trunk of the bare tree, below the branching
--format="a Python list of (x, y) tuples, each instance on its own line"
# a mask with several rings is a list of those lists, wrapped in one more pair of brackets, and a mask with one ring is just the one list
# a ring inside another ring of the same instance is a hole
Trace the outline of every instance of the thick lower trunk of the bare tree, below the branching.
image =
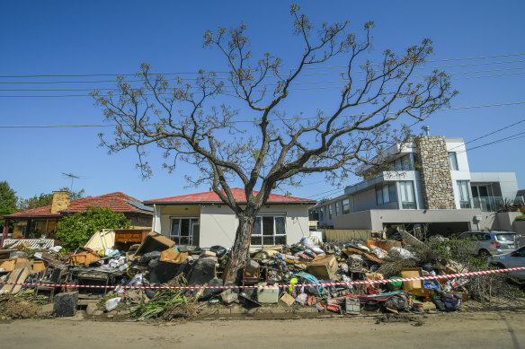
[(245, 265), (249, 257), (250, 240), (252, 238), (252, 228), (254, 227), (256, 213), (243, 212), (237, 216), (239, 225), (236, 231), (236, 240), (232, 249), (231, 257), (228, 260), (223, 275), (225, 283), (238, 283), (240, 280), (239, 270)]

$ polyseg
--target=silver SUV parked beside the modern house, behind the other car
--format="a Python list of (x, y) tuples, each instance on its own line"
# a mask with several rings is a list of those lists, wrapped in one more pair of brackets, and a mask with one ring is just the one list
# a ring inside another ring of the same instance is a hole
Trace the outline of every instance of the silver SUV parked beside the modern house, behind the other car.
[(482, 257), (519, 248), (519, 236), (513, 231), (466, 231), (458, 236), (458, 240), (469, 240), (462, 249)]

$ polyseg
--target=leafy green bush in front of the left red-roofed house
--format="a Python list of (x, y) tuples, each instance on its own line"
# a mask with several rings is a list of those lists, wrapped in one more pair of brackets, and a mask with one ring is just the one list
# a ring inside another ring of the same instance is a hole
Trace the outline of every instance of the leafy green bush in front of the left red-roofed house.
[(88, 207), (85, 212), (64, 217), (58, 222), (56, 239), (64, 249), (74, 251), (84, 246), (96, 231), (128, 228), (129, 225), (124, 214), (117, 214), (109, 207)]

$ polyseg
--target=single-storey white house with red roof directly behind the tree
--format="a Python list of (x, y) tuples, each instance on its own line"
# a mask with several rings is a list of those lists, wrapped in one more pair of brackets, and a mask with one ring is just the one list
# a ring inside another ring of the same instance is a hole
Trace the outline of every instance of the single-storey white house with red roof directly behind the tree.
[[(239, 204), (246, 202), (244, 189), (232, 188), (232, 194)], [(293, 244), (308, 236), (308, 208), (315, 204), (315, 200), (271, 194), (257, 215), (252, 246)], [(236, 215), (213, 191), (147, 200), (144, 205), (154, 207), (152, 230), (177, 244), (233, 246)]]

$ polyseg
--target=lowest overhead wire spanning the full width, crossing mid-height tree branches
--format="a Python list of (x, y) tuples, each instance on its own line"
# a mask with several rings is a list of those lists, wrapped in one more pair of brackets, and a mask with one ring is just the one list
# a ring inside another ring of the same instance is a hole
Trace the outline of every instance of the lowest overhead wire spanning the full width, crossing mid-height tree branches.
[[(516, 102), (509, 102), (509, 103), (499, 103), (499, 104), (486, 104), (486, 105), (479, 105), (479, 106), (464, 106), (464, 107), (455, 107), (455, 108), (441, 108), (437, 109), (436, 111), (446, 111), (446, 110), (459, 110), (459, 109), (478, 109), (478, 108), (492, 108), (492, 107), (505, 107), (505, 106), (511, 106), (511, 105), (519, 105), (519, 104), (525, 104), (525, 101), (516, 101)], [(387, 114), (396, 114), (396, 112), (389, 112)], [(352, 115), (341, 115), (338, 118), (354, 118), (354, 117), (360, 117), (361, 114), (352, 114)], [(319, 117), (310, 117), (310, 118), (271, 118), (269, 121), (294, 121), (294, 120), (318, 120)], [(252, 120), (248, 119), (241, 119), (241, 120), (232, 120), (229, 121), (229, 123), (254, 123), (256, 122), (256, 118)], [(421, 122), (421, 120), (415, 122), (414, 124), (410, 125), (409, 127), (414, 126), (415, 124)], [(146, 126), (154, 126), (155, 124), (147, 124)], [(179, 125), (179, 123), (175, 123), (174, 125)], [(60, 127), (116, 127), (117, 124), (102, 124), (102, 125), (0, 125), (0, 128), (60, 128)]]

